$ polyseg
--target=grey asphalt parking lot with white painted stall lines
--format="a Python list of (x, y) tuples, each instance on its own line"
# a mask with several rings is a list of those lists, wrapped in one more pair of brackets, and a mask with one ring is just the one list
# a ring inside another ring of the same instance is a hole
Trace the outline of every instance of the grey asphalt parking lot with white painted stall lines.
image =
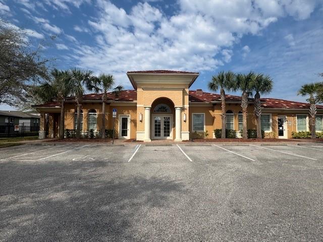
[(323, 145), (0, 149), (0, 241), (321, 241)]

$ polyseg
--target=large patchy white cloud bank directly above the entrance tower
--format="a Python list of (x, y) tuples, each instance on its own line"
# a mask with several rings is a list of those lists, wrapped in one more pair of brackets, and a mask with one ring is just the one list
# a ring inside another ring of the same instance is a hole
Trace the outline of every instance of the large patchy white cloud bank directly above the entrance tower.
[[(126, 86), (128, 70), (211, 71), (231, 61), (232, 48), (244, 35), (259, 34), (287, 15), (307, 18), (318, 4), (308, 1), (179, 0), (177, 13), (166, 16), (146, 2), (125, 11), (97, 0), (98, 16), (88, 21), (94, 43), (77, 45), (74, 57), (80, 67), (112, 72)], [(89, 31), (78, 25), (74, 30)], [(249, 46), (241, 49), (243, 56), (249, 52)]]

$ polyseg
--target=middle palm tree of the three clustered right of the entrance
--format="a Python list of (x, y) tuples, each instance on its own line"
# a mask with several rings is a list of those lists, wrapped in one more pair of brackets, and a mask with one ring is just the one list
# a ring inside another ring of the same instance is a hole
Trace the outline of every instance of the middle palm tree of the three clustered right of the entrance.
[(242, 91), (241, 108), (242, 108), (242, 138), (248, 139), (247, 134), (247, 116), (248, 116), (248, 97), (252, 94), (252, 83), (256, 75), (253, 72), (248, 74), (238, 74), (236, 82), (233, 85), (234, 91)]

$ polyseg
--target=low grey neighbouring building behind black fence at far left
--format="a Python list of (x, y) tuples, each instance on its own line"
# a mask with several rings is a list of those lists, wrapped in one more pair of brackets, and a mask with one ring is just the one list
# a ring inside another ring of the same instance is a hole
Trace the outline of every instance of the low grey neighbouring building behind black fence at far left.
[(40, 116), (21, 111), (0, 111), (0, 137), (39, 131)]

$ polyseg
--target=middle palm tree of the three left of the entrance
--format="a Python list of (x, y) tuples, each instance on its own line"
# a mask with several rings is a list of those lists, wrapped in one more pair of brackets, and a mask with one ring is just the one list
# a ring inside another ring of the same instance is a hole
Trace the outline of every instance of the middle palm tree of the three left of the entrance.
[(92, 83), (94, 80), (93, 72), (88, 70), (81, 70), (78, 68), (72, 68), (69, 72), (70, 79), (72, 82), (71, 94), (74, 96), (77, 106), (77, 117), (76, 117), (76, 138), (80, 138), (80, 127), (81, 127), (81, 105), (85, 90), (93, 89)]

